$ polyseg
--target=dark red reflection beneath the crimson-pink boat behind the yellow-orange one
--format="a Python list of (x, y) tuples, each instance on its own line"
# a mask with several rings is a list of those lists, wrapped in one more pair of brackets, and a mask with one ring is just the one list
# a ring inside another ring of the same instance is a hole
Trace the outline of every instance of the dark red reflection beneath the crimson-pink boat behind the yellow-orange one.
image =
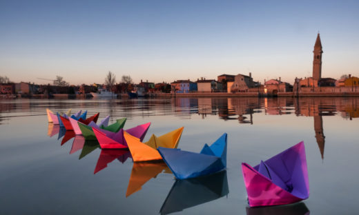
[(128, 150), (101, 150), (99, 159), (95, 167), (93, 174), (104, 170), (107, 167), (108, 163), (113, 162), (117, 159), (119, 162), (124, 163), (127, 158), (130, 158), (131, 154)]

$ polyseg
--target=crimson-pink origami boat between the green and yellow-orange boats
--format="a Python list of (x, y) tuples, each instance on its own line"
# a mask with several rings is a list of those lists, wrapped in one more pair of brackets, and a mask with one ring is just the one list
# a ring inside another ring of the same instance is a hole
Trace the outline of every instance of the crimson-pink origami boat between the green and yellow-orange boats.
[(120, 129), (119, 132), (113, 133), (106, 130), (100, 130), (93, 127), (93, 132), (99, 141), (101, 149), (127, 149), (128, 145), (126, 139), (124, 139), (124, 133), (129, 133), (135, 139), (142, 140), (146, 135), (148, 127), (151, 123), (146, 123), (143, 125), (138, 125), (136, 127), (130, 128), (124, 132), (123, 129)]

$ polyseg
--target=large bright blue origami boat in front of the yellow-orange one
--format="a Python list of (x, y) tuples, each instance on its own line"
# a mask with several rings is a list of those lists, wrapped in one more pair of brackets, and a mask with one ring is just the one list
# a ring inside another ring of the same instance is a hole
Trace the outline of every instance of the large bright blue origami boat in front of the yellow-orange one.
[(177, 179), (213, 174), (226, 168), (227, 134), (224, 133), (211, 146), (205, 144), (200, 153), (164, 147), (159, 147), (158, 152)]

